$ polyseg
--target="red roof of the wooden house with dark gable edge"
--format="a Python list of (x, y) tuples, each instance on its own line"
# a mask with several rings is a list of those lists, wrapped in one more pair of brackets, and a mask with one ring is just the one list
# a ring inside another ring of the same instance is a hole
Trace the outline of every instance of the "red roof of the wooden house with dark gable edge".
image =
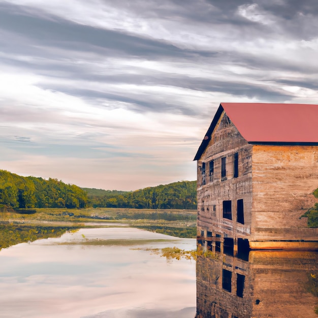
[(248, 143), (318, 145), (318, 105), (221, 103), (194, 160), (207, 147), (223, 111)]

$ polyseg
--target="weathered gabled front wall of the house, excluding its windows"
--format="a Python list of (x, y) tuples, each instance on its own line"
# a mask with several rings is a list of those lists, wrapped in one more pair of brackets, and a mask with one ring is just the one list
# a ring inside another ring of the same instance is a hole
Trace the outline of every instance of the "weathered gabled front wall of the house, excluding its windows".
[[(211, 140), (198, 161), (198, 235), (203, 231), (222, 237), (244, 237), (251, 225), (251, 149), (228, 116), (223, 113)], [(238, 153), (238, 177), (234, 178), (234, 154)], [(221, 178), (221, 158), (226, 157), (226, 178)], [(209, 163), (214, 173), (209, 175)], [(202, 165), (205, 163), (205, 175)], [(243, 199), (244, 224), (236, 221), (237, 200)], [(232, 201), (232, 220), (224, 218), (222, 204)]]

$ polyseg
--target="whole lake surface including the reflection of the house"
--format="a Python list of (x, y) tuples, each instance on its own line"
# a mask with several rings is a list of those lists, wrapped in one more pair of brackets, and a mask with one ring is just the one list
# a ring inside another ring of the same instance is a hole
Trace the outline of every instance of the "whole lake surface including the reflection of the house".
[(317, 252), (166, 259), (196, 240), (112, 226), (2, 249), (0, 317), (317, 317)]

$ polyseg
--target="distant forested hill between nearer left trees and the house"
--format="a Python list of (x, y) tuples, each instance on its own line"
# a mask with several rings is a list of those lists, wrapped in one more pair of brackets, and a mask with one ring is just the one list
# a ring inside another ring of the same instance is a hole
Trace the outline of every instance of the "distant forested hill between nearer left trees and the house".
[(178, 181), (131, 192), (82, 188), (93, 207), (197, 209), (197, 181)]

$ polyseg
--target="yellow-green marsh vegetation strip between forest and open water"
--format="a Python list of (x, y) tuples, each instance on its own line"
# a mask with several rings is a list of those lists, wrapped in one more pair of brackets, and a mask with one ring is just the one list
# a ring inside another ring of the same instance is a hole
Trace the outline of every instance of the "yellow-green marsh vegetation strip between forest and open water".
[(35, 213), (31, 214), (21, 214), (14, 210), (0, 212), (0, 249), (41, 238), (58, 237), (67, 231), (80, 228), (116, 227), (116, 224), (176, 237), (196, 237), (197, 214), (194, 210), (119, 208), (34, 210)]

